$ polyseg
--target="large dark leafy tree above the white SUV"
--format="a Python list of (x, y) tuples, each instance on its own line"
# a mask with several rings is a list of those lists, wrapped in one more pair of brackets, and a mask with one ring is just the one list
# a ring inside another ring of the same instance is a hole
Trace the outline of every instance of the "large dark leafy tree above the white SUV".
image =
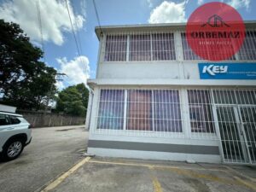
[(0, 20), (0, 96), (18, 108), (40, 109), (53, 97), (55, 69), (39, 61), (43, 52), (33, 46), (15, 23)]

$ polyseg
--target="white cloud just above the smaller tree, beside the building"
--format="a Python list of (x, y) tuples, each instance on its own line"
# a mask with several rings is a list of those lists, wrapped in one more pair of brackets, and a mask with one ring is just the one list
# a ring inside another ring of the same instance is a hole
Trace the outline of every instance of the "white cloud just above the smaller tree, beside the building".
[(67, 84), (86, 84), (90, 77), (89, 60), (86, 56), (78, 56), (71, 61), (67, 61), (66, 57), (58, 58), (57, 62), (61, 64), (60, 72), (67, 74)]

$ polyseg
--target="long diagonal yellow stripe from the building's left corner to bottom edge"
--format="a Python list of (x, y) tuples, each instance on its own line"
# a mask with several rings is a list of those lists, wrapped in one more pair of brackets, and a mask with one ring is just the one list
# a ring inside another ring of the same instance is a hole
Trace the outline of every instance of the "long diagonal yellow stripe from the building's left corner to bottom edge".
[(55, 189), (55, 187), (57, 187), (65, 178), (67, 178), (73, 172), (77, 171), (80, 166), (83, 166), (84, 163), (88, 162), (89, 160), (90, 157), (86, 157), (84, 158), (84, 160), (79, 161), (79, 163), (71, 167), (67, 172), (64, 172), (60, 177), (57, 177), (52, 183), (49, 183), (49, 185), (46, 186), (43, 190), (41, 190), (41, 192), (46, 192)]

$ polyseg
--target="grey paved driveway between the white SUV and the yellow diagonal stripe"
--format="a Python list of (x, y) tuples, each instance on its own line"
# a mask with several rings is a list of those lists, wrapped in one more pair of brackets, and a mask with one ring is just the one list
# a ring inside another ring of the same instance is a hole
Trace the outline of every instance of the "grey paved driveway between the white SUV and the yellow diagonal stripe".
[(82, 126), (32, 129), (32, 143), (16, 160), (0, 163), (0, 191), (31, 192), (81, 159), (88, 132)]

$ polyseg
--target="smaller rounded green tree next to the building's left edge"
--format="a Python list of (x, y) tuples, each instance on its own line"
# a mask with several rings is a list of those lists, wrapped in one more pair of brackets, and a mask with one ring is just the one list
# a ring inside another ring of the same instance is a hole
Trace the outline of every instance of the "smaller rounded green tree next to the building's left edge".
[(75, 116), (85, 116), (89, 90), (84, 84), (77, 84), (62, 90), (57, 97), (56, 111)]

